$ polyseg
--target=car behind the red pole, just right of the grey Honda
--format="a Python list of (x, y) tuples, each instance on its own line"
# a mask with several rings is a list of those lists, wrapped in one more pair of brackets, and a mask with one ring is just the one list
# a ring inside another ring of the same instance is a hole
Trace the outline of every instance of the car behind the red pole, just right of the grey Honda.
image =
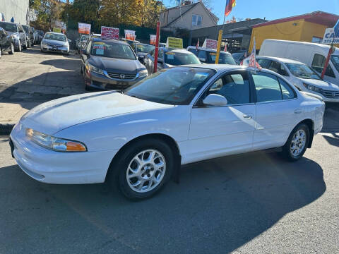
[[(145, 66), (148, 73), (154, 72), (154, 56), (155, 49), (145, 56)], [(159, 48), (157, 56), (157, 70), (169, 68), (172, 66), (200, 63), (201, 62), (199, 61), (198, 57), (186, 49)]]

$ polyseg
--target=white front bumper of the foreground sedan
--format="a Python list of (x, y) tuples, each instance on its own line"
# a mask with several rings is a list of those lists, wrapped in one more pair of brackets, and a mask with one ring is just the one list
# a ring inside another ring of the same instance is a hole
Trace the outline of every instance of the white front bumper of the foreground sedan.
[(40, 147), (25, 136), (19, 122), (11, 132), (13, 157), (19, 167), (44, 183), (102, 183), (117, 150), (95, 152), (55, 152)]

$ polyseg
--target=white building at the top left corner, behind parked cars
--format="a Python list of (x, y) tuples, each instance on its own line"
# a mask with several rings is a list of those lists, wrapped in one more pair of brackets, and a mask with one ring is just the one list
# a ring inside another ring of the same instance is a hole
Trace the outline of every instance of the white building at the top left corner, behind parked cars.
[(29, 0), (0, 0), (0, 17), (6, 22), (26, 25), (28, 21)]

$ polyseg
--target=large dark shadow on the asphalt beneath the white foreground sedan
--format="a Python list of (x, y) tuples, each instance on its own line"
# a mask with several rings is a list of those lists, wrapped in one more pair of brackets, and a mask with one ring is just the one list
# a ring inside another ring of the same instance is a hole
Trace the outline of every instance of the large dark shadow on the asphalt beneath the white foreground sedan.
[(39, 183), (18, 166), (0, 181), (2, 248), (60, 253), (229, 253), (326, 191), (316, 162), (261, 152), (184, 167), (179, 185), (142, 202), (105, 184)]

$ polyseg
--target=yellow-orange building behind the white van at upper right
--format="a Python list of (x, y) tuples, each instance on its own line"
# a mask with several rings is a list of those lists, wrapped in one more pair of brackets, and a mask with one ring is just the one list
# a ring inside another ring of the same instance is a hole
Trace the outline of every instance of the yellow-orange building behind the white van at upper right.
[(326, 28), (333, 28), (338, 19), (338, 15), (315, 11), (253, 25), (250, 49), (254, 37), (257, 50), (266, 39), (321, 43)]

